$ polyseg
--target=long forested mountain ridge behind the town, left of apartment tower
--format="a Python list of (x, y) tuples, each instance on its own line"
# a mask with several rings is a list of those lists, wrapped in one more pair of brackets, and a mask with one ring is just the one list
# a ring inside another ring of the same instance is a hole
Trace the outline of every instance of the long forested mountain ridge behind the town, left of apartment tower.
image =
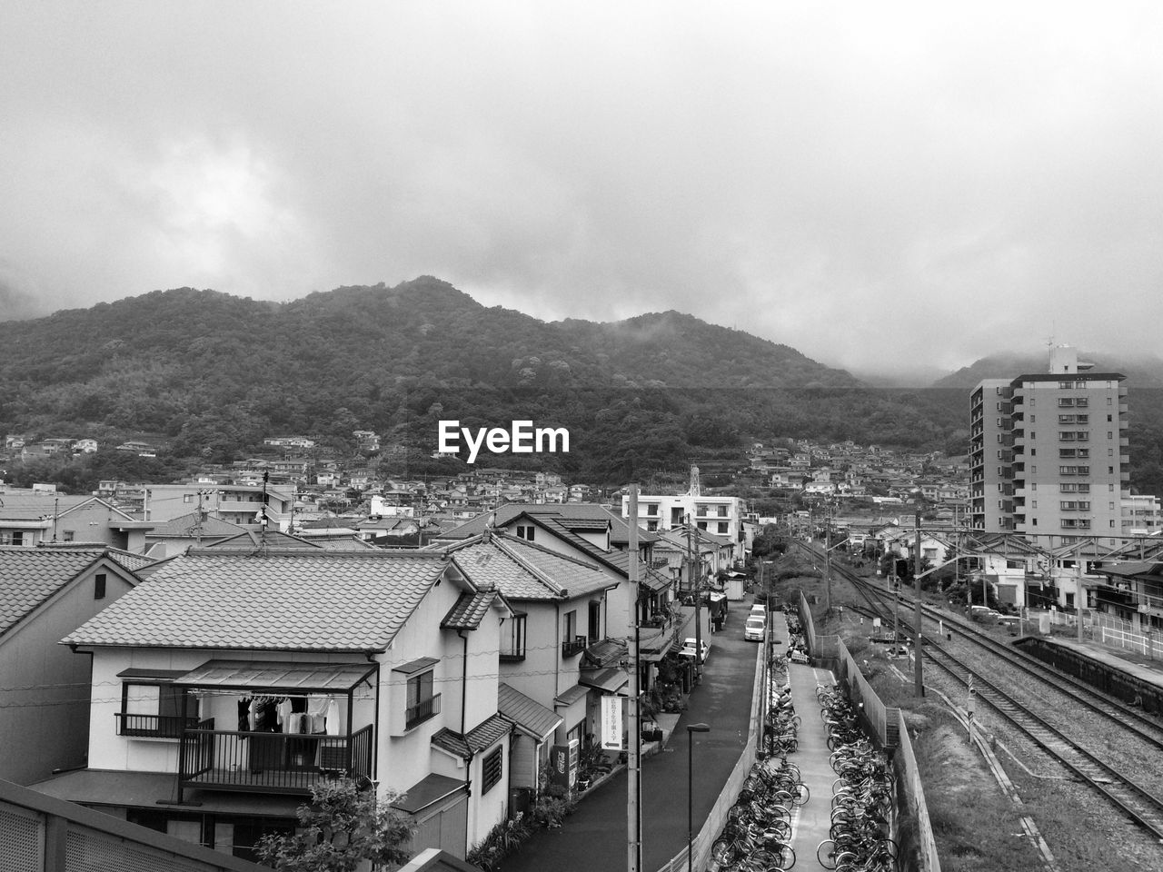
[[(509, 458), (621, 483), (775, 436), (961, 448), (957, 391), (872, 391), (794, 349), (676, 312), (543, 322), (421, 277), (286, 303), (154, 292), (0, 323), (0, 430), (150, 435), (229, 460), (272, 434), (351, 446), (374, 430), (419, 463), (436, 422), (568, 427), (568, 456)], [(490, 459), (492, 462), (492, 459)]]

